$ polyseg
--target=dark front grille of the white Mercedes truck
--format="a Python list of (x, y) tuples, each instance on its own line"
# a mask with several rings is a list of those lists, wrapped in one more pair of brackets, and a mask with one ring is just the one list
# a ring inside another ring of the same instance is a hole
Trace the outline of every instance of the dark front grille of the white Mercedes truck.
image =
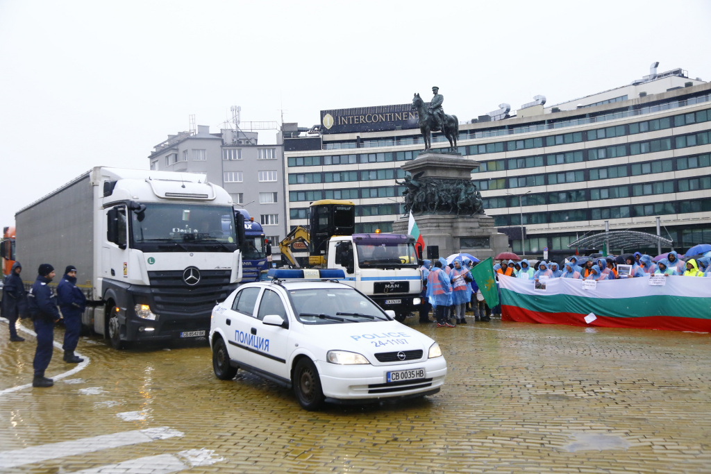
[(215, 301), (223, 301), (237, 284), (230, 284), (230, 270), (201, 270), (200, 281), (189, 286), (182, 270), (149, 271), (156, 313), (208, 315)]

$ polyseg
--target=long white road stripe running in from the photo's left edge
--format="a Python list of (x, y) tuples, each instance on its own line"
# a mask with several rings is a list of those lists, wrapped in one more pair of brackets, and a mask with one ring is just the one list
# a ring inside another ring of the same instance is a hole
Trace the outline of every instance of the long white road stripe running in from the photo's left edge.
[(41, 463), (46, 460), (77, 456), (78, 454), (92, 453), (102, 449), (118, 448), (132, 444), (148, 443), (158, 439), (181, 437), (183, 433), (161, 426), (121, 433), (81, 438), (73, 441), (43, 444), (29, 448), (15, 449), (13, 451), (0, 451), (0, 469), (15, 468), (18, 465)]

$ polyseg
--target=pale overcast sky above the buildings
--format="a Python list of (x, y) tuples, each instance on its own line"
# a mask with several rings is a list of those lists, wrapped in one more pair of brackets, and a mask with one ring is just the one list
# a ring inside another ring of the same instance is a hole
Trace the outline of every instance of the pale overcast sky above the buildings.
[(466, 120), (626, 85), (653, 61), (711, 80), (710, 20), (704, 0), (0, 0), (0, 226), (92, 166), (147, 169), (189, 115), (216, 132), (232, 105), (311, 126), (438, 85)]

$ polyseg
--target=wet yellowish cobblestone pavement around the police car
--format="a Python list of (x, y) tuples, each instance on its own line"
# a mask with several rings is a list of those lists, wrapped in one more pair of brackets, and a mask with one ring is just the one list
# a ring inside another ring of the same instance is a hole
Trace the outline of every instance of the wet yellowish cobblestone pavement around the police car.
[[(468, 319), (406, 321), (447, 357), (439, 394), (316, 413), (245, 372), (216, 379), (206, 343), (82, 338), (85, 367), (16, 389), (35, 341), (9, 343), (5, 321), (0, 472), (711, 472), (711, 335)], [(47, 375), (74, 367), (55, 350)]]

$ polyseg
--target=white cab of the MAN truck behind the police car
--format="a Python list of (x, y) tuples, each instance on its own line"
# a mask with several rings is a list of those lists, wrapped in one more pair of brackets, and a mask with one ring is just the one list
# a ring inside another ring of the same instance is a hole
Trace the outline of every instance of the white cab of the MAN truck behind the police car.
[(360, 290), (398, 321), (422, 302), (422, 271), (415, 239), (402, 234), (353, 234), (328, 240), (328, 269), (343, 269), (344, 282)]

